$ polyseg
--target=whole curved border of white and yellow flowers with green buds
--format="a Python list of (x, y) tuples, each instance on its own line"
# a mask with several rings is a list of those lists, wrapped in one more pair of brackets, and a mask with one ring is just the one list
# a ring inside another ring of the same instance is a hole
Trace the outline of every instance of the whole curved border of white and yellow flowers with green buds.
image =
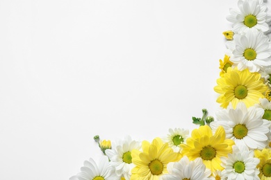
[(104, 154), (70, 180), (271, 179), (271, 16), (266, 1), (239, 0), (227, 20), (216, 118), (202, 109), (199, 125), (169, 129), (153, 141), (130, 136), (94, 140)]

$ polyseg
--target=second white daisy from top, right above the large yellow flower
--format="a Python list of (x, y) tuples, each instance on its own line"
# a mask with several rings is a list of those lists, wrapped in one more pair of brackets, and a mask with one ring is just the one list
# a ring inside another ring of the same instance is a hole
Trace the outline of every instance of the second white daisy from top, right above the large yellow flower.
[(271, 65), (271, 44), (262, 32), (234, 35), (233, 41), (226, 42), (226, 46), (233, 67), (238, 66), (240, 71), (258, 72)]

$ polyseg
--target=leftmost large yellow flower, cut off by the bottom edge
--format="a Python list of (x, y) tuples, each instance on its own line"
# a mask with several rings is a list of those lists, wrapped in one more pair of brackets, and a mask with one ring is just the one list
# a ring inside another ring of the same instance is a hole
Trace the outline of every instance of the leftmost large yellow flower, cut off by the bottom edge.
[(132, 169), (131, 180), (158, 180), (161, 175), (167, 173), (167, 163), (176, 162), (181, 159), (181, 154), (173, 152), (167, 143), (163, 143), (161, 138), (154, 141), (142, 142), (142, 150), (132, 150), (132, 161), (136, 165)]

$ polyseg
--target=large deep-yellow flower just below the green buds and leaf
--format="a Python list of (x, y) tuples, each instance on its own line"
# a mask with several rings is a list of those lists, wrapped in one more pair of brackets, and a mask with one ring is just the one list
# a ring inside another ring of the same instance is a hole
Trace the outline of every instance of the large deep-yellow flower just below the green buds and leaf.
[(232, 152), (231, 146), (234, 141), (225, 139), (226, 134), (223, 127), (218, 127), (213, 135), (211, 127), (204, 125), (199, 129), (192, 131), (191, 137), (186, 140), (186, 144), (182, 144), (182, 154), (186, 155), (193, 161), (198, 157), (202, 158), (206, 168), (212, 172), (215, 170), (223, 170), (221, 164), (221, 157), (227, 156)]

